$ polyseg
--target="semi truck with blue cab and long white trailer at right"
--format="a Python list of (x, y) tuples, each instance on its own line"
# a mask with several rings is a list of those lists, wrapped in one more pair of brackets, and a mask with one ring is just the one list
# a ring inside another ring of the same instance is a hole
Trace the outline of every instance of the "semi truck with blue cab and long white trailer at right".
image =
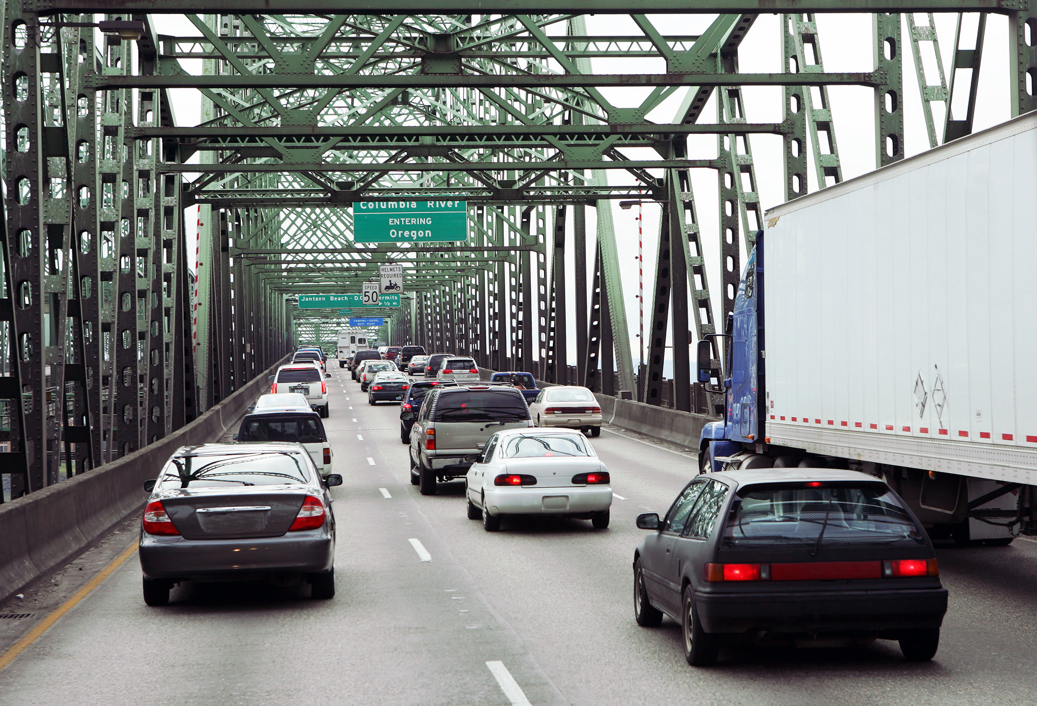
[(936, 536), (1037, 533), (1034, 262), (1037, 113), (768, 210), (699, 343), (703, 470), (843, 465)]

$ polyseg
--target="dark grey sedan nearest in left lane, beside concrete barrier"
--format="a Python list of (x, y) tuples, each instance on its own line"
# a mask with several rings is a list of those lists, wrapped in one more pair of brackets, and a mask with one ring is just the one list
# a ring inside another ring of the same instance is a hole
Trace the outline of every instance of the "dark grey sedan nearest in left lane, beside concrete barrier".
[(181, 447), (151, 491), (140, 532), (144, 601), (164, 605), (183, 581), (306, 577), (314, 598), (335, 595), (335, 516), (328, 488), (300, 444)]

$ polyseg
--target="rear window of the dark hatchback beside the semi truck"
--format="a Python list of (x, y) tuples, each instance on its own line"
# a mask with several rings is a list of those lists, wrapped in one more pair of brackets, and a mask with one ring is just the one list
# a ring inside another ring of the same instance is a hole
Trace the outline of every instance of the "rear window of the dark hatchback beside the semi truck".
[(814, 482), (739, 490), (721, 547), (924, 544), (924, 533), (885, 485)]

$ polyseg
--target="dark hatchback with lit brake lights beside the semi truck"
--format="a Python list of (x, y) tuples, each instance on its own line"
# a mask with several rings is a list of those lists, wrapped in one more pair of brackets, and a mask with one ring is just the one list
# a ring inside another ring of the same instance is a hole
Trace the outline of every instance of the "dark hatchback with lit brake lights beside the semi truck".
[(898, 640), (931, 659), (947, 612), (935, 553), (881, 480), (853, 471), (754, 469), (695, 478), (634, 555), (634, 616), (682, 626), (691, 665), (722, 634), (791, 644)]

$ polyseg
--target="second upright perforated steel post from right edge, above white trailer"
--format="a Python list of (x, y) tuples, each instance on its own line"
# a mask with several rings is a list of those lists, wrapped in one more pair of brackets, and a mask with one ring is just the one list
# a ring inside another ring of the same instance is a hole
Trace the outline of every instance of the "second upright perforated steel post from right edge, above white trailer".
[[(875, 167), (904, 159), (903, 53), (900, 41), (900, 15), (878, 12), (872, 16), (875, 73), (886, 81), (875, 86)], [(823, 185), (820, 185), (823, 186)]]

